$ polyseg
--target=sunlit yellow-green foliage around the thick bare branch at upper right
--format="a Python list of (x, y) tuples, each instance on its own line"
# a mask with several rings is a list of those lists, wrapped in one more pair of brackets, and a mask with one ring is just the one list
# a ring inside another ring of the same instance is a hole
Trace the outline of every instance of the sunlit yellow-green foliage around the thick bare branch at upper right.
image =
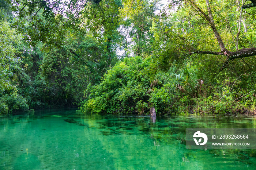
[[(248, 8), (241, 13), (242, 1), (210, 1), (210, 5), (215, 26), (227, 50), (255, 47), (255, 19), (252, 18), (255, 9)], [(159, 20), (159, 24), (153, 23), (151, 27), (155, 37), (154, 56), (158, 59), (159, 67), (168, 68), (172, 63), (193, 61), (193, 65), (211, 80), (243, 73), (253, 75), (253, 57), (231, 61), (226, 71), (223, 71), (225, 73), (219, 73), (227, 60), (226, 56), (193, 54), (197, 50), (221, 51), (212, 27), (199, 11), (200, 8), (208, 15), (204, 0), (186, 0), (177, 4), (176, 8), (174, 6), (169, 5), (169, 10), (165, 11), (166, 15)]]

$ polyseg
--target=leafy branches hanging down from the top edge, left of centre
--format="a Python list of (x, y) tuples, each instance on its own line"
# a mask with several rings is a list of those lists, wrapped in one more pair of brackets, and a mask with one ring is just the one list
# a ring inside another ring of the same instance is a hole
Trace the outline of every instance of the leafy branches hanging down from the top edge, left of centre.
[(15, 1), (13, 7), (19, 16), (14, 25), (27, 35), (31, 44), (38, 41), (51, 47), (60, 47), (67, 30), (85, 34), (88, 30), (101, 39), (112, 35), (118, 26), (118, 7), (121, 2), (102, 0), (72, 1)]

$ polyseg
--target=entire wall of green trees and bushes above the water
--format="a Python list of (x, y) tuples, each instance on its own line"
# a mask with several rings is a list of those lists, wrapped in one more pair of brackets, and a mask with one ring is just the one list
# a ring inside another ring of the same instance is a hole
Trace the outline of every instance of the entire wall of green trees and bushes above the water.
[(256, 7), (161, 2), (0, 1), (0, 114), (256, 114)]

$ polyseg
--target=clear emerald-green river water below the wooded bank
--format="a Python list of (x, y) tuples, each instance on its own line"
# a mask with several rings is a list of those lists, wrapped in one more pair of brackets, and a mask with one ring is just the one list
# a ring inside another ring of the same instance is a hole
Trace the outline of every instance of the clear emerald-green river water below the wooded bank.
[(186, 149), (185, 128), (256, 128), (256, 117), (2, 116), (0, 169), (256, 169), (256, 150)]

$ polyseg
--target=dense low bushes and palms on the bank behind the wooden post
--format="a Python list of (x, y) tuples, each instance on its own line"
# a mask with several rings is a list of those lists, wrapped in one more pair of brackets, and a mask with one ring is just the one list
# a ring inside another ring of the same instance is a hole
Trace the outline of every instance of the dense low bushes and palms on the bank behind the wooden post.
[(254, 114), (252, 80), (211, 78), (197, 67), (156, 69), (152, 58), (125, 58), (105, 74), (99, 85), (84, 90), (80, 110), (93, 113), (158, 115)]

